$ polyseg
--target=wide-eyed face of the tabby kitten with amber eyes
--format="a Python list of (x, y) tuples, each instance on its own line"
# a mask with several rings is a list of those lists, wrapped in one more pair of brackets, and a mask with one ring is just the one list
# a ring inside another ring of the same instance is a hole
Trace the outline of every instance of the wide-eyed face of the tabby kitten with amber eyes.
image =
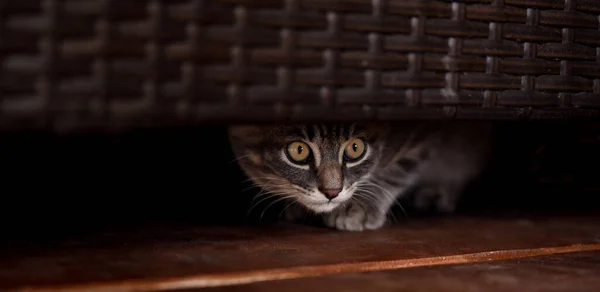
[(230, 140), (248, 176), (265, 191), (317, 213), (354, 195), (379, 162), (382, 126), (232, 126)]

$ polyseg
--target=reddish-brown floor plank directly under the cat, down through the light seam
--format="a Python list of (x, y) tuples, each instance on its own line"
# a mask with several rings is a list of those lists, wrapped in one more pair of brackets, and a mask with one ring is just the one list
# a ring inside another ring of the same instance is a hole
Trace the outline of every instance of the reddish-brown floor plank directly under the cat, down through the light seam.
[(157, 291), (600, 250), (598, 217), (418, 220), (347, 233), (152, 228), (0, 250), (3, 291)]

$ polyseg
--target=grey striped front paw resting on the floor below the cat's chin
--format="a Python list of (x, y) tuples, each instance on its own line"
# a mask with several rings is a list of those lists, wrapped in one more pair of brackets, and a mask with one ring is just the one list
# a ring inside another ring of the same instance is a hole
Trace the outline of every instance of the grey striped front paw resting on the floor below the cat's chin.
[(385, 224), (386, 214), (369, 212), (358, 203), (350, 202), (324, 215), (323, 221), (328, 227), (343, 231), (375, 230)]

